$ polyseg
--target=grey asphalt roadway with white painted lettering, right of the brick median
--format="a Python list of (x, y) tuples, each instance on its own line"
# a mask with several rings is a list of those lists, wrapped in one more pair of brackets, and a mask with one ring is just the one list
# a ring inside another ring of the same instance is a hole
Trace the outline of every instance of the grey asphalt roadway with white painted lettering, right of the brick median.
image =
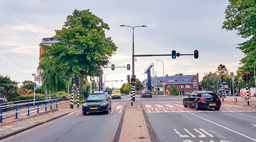
[(256, 142), (256, 112), (147, 113), (147, 116), (159, 142)]

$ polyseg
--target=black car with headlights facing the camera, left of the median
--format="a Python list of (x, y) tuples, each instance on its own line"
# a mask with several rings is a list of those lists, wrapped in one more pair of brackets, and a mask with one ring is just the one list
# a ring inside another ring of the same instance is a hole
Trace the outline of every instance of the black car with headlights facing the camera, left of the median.
[(88, 112), (105, 112), (108, 114), (108, 110), (111, 110), (111, 98), (106, 93), (90, 94), (82, 108), (84, 115)]

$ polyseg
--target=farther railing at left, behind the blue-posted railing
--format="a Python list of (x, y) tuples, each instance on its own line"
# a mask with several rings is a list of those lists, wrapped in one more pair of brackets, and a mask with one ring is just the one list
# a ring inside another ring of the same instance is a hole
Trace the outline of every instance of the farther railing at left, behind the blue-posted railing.
[[(61, 99), (63, 96), (57, 96), (57, 97), (51, 97), (51, 99)], [(40, 99), (35, 99), (35, 102), (37, 102), (37, 101), (40, 101), (40, 100), (47, 100), (48, 99), (48, 97), (45, 97), (45, 98), (40, 98)], [(1, 106), (3, 106), (3, 105), (13, 105), (13, 104), (24, 104), (24, 105), (18, 105), (18, 109), (20, 109), (20, 108), (26, 108), (27, 107), (27, 104), (26, 104), (26, 102), (33, 102), (34, 101), (34, 99), (26, 99), (26, 100), (19, 100), (19, 101), (14, 101), (14, 102), (5, 102), (5, 103), (1, 103), (0, 104), (0, 107)], [(41, 102), (39, 105), (42, 105), (42, 104), (44, 104), (44, 102)], [(33, 106), (34, 105), (34, 103), (33, 104), (31, 104), (30, 106)], [(5, 108), (4, 109), (4, 111), (11, 111), (11, 109), (15, 109), (15, 106), (10, 106), (10, 107), (7, 107), (7, 108)]]

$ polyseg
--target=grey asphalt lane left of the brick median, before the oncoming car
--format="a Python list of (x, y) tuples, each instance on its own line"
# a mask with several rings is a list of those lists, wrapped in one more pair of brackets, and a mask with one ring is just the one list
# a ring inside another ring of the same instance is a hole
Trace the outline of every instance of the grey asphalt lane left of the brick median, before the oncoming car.
[[(122, 114), (64, 116), (19, 133), (3, 142), (110, 142)], [(1, 142), (2, 142), (1, 141)]]

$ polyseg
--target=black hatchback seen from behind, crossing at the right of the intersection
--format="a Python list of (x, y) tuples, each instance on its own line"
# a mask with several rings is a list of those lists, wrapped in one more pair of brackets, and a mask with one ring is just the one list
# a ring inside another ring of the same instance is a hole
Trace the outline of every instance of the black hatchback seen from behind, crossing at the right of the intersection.
[(201, 108), (221, 108), (221, 99), (212, 91), (195, 91), (183, 98), (184, 107), (192, 106), (196, 110)]

